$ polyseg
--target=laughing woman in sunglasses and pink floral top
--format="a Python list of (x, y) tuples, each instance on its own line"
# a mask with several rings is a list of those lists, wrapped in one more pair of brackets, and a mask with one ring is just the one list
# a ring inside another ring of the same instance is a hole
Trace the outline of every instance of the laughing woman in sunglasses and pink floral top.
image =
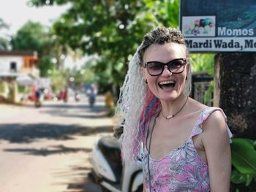
[(176, 28), (148, 32), (129, 62), (117, 103), (121, 151), (134, 164), (143, 143), (144, 191), (229, 191), (227, 118), (189, 97), (191, 71)]

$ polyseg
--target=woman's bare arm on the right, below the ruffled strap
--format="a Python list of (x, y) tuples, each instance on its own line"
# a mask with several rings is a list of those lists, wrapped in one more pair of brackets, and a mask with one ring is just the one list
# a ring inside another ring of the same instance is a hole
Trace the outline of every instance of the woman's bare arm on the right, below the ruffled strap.
[(208, 161), (211, 192), (230, 191), (230, 140), (222, 112), (214, 111), (203, 123), (202, 142)]

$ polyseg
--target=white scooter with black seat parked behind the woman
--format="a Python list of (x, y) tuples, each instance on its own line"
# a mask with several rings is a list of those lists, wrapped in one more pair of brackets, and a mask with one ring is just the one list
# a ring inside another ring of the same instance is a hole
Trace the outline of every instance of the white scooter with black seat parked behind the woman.
[(142, 192), (142, 161), (132, 166), (121, 162), (121, 150), (118, 139), (112, 135), (100, 136), (96, 139), (90, 162), (93, 180), (102, 186), (102, 191)]

